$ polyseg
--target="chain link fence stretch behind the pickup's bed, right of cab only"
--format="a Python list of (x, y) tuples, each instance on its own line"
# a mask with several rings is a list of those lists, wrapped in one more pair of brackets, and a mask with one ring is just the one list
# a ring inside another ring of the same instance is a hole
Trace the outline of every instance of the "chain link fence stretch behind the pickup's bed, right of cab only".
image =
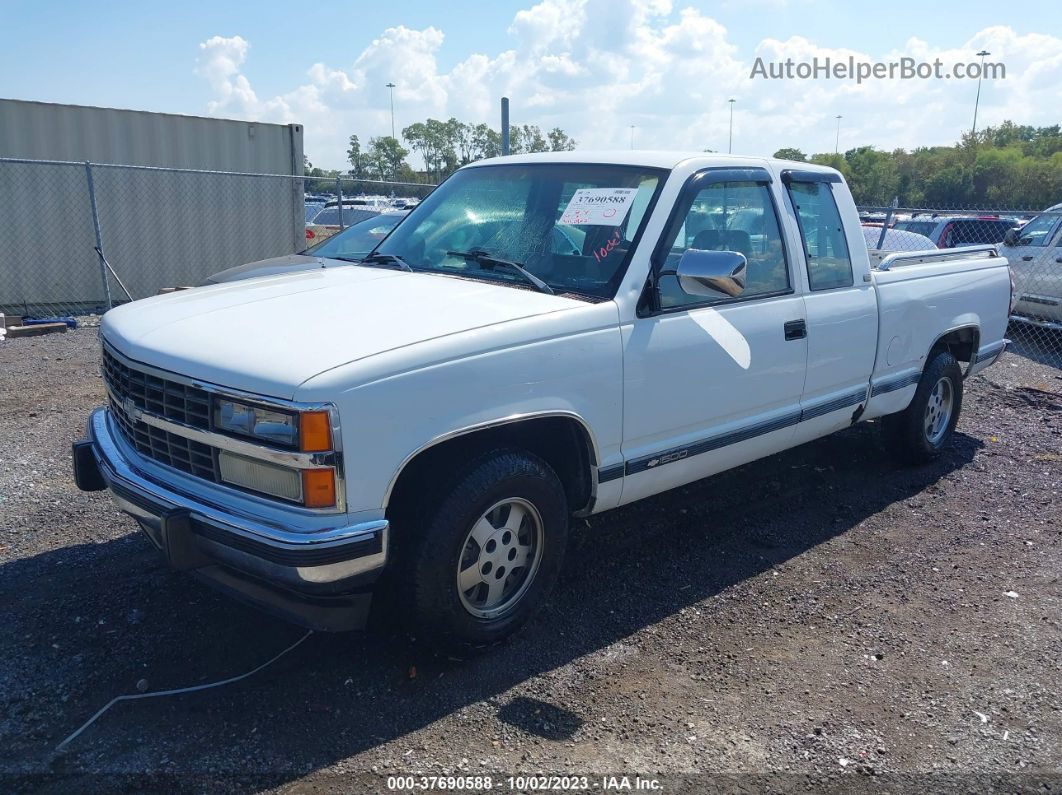
[(1062, 367), (1062, 205), (1042, 212), (860, 207), (859, 213), (872, 256), (996, 246), (1014, 280), (1011, 350)]

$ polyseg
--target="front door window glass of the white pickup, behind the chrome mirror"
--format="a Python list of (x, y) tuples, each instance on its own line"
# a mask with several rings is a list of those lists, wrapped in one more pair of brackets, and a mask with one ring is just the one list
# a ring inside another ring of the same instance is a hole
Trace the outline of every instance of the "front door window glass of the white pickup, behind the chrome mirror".
[[(738, 252), (749, 262), (740, 298), (789, 290), (789, 272), (778, 230), (778, 219), (768, 187), (761, 183), (714, 183), (693, 197), (661, 270), (672, 270), (687, 248)], [(704, 296), (687, 295), (675, 276), (661, 276), (661, 309), (704, 304)], [(718, 298), (726, 303), (735, 298)]]

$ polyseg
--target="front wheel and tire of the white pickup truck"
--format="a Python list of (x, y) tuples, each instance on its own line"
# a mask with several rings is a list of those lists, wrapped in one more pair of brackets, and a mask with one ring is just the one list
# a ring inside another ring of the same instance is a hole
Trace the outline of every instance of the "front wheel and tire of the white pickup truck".
[(564, 486), (537, 456), (495, 450), (472, 462), (432, 505), (411, 533), (395, 583), (410, 597), (401, 601), (411, 623), (445, 646), (498, 642), (556, 582), (568, 536)]

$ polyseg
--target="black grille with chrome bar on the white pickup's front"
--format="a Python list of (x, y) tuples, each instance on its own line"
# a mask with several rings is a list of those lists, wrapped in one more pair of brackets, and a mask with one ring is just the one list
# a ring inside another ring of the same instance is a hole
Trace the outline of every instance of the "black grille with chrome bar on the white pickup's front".
[(130, 367), (106, 348), (103, 377), (108, 386), (112, 416), (137, 452), (198, 478), (219, 482), (212, 447), (141, 422), (125, 409), (129, 401), (140, 411), (206, 430), (210, 425), (210, 397), (206, 392)]

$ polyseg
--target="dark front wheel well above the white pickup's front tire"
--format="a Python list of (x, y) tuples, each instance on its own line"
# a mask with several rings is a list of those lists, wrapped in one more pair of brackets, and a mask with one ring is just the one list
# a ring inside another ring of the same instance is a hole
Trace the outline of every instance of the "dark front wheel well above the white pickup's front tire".
[[(571, 417), (532, 417), (483, 428), (427, 448), (409, 461), (388, 500), (387, 511), (423, 502), (424, 485), (440, 485), (476, 455), (498, 447), (517, 447), (534, 453), (556, 472), (572, 512), (593, 496), (592, 468), (597, 465), (589, 433)], [(440, 478), (444, 473), (444, 478)]]

